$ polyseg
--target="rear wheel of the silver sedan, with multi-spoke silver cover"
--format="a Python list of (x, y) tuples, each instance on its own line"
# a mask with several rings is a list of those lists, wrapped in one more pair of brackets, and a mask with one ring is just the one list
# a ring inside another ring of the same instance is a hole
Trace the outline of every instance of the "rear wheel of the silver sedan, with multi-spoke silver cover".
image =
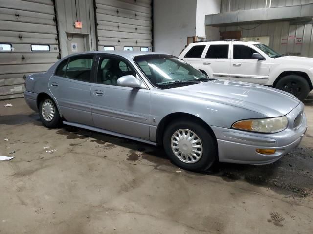
[[(43, 105), (45, 106), (43, 107)], [(47, 113), (49, 110), (51, 111), (51, 114), (53, 113), (53, 117), (44, 114), (45, 111)], [(58, 108), (50, 97), (45, 97), (40, 101), (39, 117), (43, 125), (47, 128), (57, 128), (62, 123)]]

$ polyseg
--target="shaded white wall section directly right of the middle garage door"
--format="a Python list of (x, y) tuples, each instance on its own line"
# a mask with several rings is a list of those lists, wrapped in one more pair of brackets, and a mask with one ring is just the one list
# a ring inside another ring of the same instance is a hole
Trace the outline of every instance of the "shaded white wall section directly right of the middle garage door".
[(195, 36), (197, 0), (153, 2), (154, 51), (178, 56), (187, 37)]

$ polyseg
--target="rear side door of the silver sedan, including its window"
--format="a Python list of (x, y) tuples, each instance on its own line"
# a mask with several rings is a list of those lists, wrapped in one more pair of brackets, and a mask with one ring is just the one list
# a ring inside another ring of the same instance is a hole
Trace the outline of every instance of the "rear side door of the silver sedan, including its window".
[(93, 125), (91, 80), (93, 54), (77, 55), (60, 63), (49, 80), (49, 89), (68, 122)]

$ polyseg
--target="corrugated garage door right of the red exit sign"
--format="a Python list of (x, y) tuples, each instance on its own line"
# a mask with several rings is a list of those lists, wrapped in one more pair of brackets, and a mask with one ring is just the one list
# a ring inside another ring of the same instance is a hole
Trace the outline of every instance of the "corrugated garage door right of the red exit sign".
[(152, 50), (151, 0), (95, 0), (99, 50)]

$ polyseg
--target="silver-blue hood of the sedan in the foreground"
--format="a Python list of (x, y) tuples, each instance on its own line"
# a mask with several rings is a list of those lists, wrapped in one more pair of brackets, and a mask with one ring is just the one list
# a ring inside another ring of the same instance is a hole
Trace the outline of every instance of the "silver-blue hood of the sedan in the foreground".
[(299, 99), (281, 90), (229, 80), (214, 80), (167, 91), (184, 97), (237, 106), (266, 117), (284, 116), (300, 103)]

